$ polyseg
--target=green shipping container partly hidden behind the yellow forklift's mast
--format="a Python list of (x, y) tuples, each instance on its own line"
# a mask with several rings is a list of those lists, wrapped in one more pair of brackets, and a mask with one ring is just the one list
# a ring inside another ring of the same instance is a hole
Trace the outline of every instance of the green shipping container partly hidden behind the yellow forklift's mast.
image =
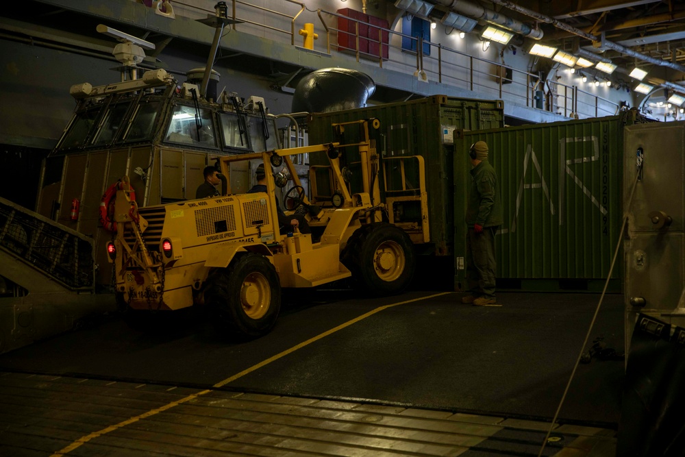
[[(381, 156), (379, 180), (381, 194), (385, 198), (388, 190), (397, 192), (403, 188), (419, 186), (418, 160), (392, 160), (419, 156), (425, 164), (425, 183), (428, 199), (429, 243), (417, 245), (420, 254), (451, 256), (454, 233), (454, 188), (453, 131), (455, 129), (493, 129), (503, 127), (504, 109), (502, 101), (457, 99), (434, 95), (425, 99), (402, 103), (312, 114), (308, 119), (309, 143), (355, 143), (360, 140), (358, 125), (346, 125), (342, 138), (334, 134), (332, 124), (378, 119), (380, 127), (371, 129), (369, 136)], [(341, 166), (349, 170), (349, 187), (352, 193), (362, 192), (359, 179), (359, 154), (356, 147), (343, 148)], [(402, 166), (399, 166), (402, 162)], [(384, 163), (386, 166), (384, 166)], [(316, 195), (330, 195), (327, 188), (328, 171), (317, 168), (327, 164), (324, 156), (310, 156), (310, 166), (315, 175)], [(396, 195), (396, 194), (393, 194)], [(421, 218), (421, 208), (416, 202), (398, 203), (395, 206), (395, 221)], [(425, 249), (422, 249), (425, 248)]]

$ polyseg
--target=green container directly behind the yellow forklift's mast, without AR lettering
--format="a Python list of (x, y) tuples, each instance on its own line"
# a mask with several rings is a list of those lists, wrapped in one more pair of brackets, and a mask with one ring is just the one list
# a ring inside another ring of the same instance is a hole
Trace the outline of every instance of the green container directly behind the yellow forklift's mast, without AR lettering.
[[(333, 123), (378, 119), (380, 128), (370, 132), (382, 157), (422, 156), (425, 160), (426, 187), (428, 193), (429, 221), (432, 252), (440, 256), (451, 255), (454, 232), (452, 143), (453, 129), (491, 129), (503, 127), (504, 110), (501, 101), (457, 99), (434, 95), (425, 99), (403, 103), (388, 103), (380, 106), (336, 112), (316, 113), (308, 120), (309, 143), (328, 143), (334, 140)], [(358, 140), (358, 132), (348, 126), (345, 142)], [(345, 161), (351, 164), (359, 160), (356, 147), (344, 151)], [(323, 156), (310, 156), (310, 165), (327, 164)], [(354, 169), (351, 167), (354, 171)], [(390, 174), (390, 173), (388, 173)], [(408, 171), (408, 179), (416, 170)], [(360, 182), (351, 180), (353, 192), (360, 192)], [(388, 182), (397, 176), (387, 176)], [(379, 178), (381, 182), (383, 176)], [(319, 180), (317, 180), (319, 183)], [(325, 189), (317, 188), (319, 195)]]

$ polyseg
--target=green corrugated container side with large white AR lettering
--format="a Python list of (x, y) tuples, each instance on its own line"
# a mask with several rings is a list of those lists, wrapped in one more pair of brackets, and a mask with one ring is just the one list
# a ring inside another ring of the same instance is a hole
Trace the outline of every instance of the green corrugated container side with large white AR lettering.
[[(504, 212), (496, 238), (497, 278), (505, 288), (601, 290), (621, 236), (623, 125), (623, 118), (612, 116), (456, 132), (461, 158), (455, 160), (455, 189), (462, 193), (455, 199), (456, 221), (464, 214), (471, 182), (469, 147), (488, 143), (497, 171)], [(456, 223), (455, 230), (459, 283), (466, 226)], [(620, 264), (614, 280), (621, 277)], [(567, 281), (541, 286), (506, 279)], [(616, 288), (620, 284), (614, 282)]]

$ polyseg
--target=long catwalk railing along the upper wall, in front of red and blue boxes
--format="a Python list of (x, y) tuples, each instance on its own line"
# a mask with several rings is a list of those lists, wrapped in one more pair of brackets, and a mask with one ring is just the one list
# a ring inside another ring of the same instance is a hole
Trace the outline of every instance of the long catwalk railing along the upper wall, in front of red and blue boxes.
[[(206, 2), (208, 7), (213, 2)], [(566, 117), (612, 116), (619, 111), (619, 104), (582, 90), (578, 86), (562, 84), (557, 80), (544, 80), (540, 75), (516, 69), (502, 62), (479, 58), (442, 45), (427, 42), (377, 24), (360, 21), (337, 12), (310, 10), (306, 3), (295, 0), (274, 2), (278, 10), (253, 5), (247, 1), (229, 0), (229, 16), (238, 23), (231, 25), (240, 32), (256, 34), (272, 40), (290, 42), (295, 46), (301, 25), (313, 23), (315, 29), (323, 30), (321, 40), (316, 41), (314, 51), (336, 53), (340, 58), (353, 58), (356, 62), (376, 64), (379, 69), (389, 69), (415, 75), (419, 81), (435, 81), (446, 86), (476, 92), (478, 98), (503, 99), (512, 103), (553, 112)], [(204, 17), (214, 14), (214, 9), (175, 1), (177, 14)], [(287, 10), (291, 11), (288, 12)], [(339, 19), (347, 21), (348, 29), (336, 27)], [(299, 25), (298, 25), (299, 24)], [(349, 24), (352, 24), (350, 26)], [(321, 27), (321, 28), (319, 28)], [(360, 35), (360, 29), (373, 29), (373, 36)], [(375, 36), (375, 31), (378, 36)], [(446, 34), (452, 31), (446, 29)], [(336, 40), (339, 33), (347, 34), (348, 45), (342, 47)], [(458, 31), (454, 31), (458, 33)], [(388, 40), (383, 40), (387, 36)], [(360, 42), (369, 43), (369, 49), (361, 50)], [(404, 46), (402, 46), (404, 42)], [(411, 43), (406, 49), (407, 43)], [(493, 46), (499, 46), (493, 44)], [(414, 49), (414, 50), (412, 50)]]

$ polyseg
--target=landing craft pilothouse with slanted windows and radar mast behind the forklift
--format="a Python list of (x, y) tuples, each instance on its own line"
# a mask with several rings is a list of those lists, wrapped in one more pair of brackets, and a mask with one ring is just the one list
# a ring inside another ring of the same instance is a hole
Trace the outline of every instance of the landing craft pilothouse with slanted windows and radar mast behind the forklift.
[[(220, 16), (201, 20), (217, 31), (231, 21)], [(153, 43), (106, 25), (97, 30), (120, 41), (113, 54), (121, 62), (121, 81), (71, 87), (77, 106), (43, 164), (40, 214), (103, 245), (112, 238), (113, 200), (120, 186), (114, 183), (121, 176), (131, 177), (129, 186), (140, 207), (184, 201), (195, 197), (203, 168), (216, 158), (280, 147), (276, 116), (269, 114), (263, 98), (245, 101), (234, 92), (217, 93), (219, 73), (212, 63), (218, 42), (212, 43), (208, 70), (192, 69), (188, 80), (179, 83), (163, 69), (140, 67), (144, 49), (155, 49)], [(247, 191), (251, 164), (233, 173), (234, 182)], [(100, 251), (96, 249), (96, 282), (106, 286), (112, 273)]]

